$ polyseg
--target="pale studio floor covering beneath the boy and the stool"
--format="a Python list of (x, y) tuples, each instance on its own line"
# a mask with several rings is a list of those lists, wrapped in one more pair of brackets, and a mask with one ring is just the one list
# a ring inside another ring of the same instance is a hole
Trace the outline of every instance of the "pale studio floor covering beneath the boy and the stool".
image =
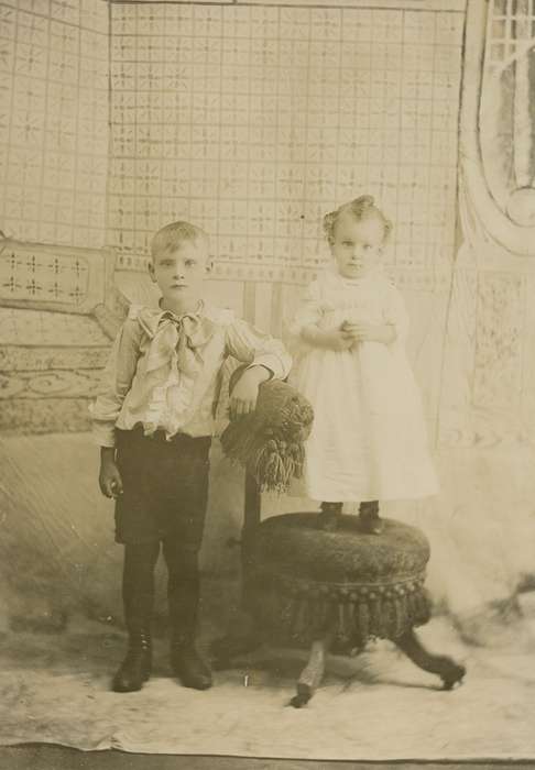
[[(77, 623), (61, 635), (8, 634), (1, 652), (0, 745), (190, 755), (192, 762), (195, 755), (251, 759), (250, 765), (237, 760), (236, 768), (254, 768), (254, 757), (386, 762), (535, 758), (535, 636), (532, 646), (523, 632), (515, 649), (468, 647), (446, 618), (435, 618), (421, 635), (430, 649), (467, 666), (461, 688), (439, 690), (435, 676), (387, 642), (378, 642), (358, 658), (332, 658), (324, 686), (305, 708), (295, 710), (288, 702), (303, 664), (297, 652), (264, 650), (230, 671), (216, 672), (211, 691), (196, 692), (170, 676), (162, 640), (151, 681), (139, 693), (120, 695), (110, 692), (109, 679), (123, 653), (121, 632)], [(12, 757), (22, 756), (12, 751)], [(11, 770), (1, 765), (4, 759), (0, 752), (0, 767)], [(281, 765), (285, 767), (293, 765)]]

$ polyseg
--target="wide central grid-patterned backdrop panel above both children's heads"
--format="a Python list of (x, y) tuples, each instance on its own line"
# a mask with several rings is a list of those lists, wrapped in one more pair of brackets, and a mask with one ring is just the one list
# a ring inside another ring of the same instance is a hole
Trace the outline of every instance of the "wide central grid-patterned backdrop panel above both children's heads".
[(222, 263), (315, 268), (320, 218), (374, 194), (391, 266), (436, 290), (452, 256), (462, 13), (111, 7), (109, 240), (187, 217)]

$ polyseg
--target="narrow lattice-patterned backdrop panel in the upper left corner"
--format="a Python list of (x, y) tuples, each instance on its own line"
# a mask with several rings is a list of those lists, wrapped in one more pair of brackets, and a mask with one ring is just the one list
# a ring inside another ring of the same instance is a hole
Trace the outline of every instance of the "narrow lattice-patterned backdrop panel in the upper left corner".
[(0, 228), (55, 244), (105, 242), (108, 7), (0, 2)]

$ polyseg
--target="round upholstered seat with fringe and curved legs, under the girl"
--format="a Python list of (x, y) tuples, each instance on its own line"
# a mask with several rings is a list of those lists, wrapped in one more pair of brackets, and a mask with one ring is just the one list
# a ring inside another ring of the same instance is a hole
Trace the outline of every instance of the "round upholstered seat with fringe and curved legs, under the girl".
[(328, 651), (357, 653), (369, 639), (391, 639), (417, 666), (450, 690), (462, 666), (430, 654), (414, 628), (429, 619), (424, 587), (429, 546), (423, 532), (383, 519), (381, 536), (359, 530), (354, 516), (339, 516), (335, 531), (316, 513), (286, 514), (249, 532), (243, 563), (243, 605), (253, 619), (247, 638), (219, 640), (219, 668), (261, 641), (310, 650), (292, 705), (314, 694)]

